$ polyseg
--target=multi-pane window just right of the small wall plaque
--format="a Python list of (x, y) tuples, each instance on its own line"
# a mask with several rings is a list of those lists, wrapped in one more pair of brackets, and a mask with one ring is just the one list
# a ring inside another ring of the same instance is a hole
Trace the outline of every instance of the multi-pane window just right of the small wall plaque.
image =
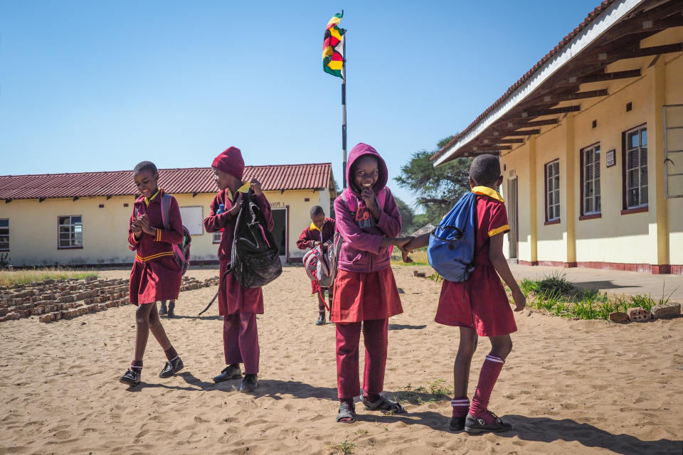
[(625, 132), (625, 208), (647, 205), (647, 127)]

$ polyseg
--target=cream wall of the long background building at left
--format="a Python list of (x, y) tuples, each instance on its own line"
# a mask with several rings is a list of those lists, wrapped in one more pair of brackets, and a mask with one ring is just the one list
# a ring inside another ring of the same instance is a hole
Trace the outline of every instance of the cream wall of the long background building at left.
[[(291, 257), (300, 257), (296, 241), (310, 223), (312, 205), (322, 205), (329, 215), (329, 191), (290, 190), (266, 191), (273, 210), (287, 210), (289, 225), (287, 250)], [(181, 208), (201, 207), (202, 218), (208, 216), (215, 194), (174, 195)], [(308, 201), (306, 199), (309, 199)], [(128, 220), (132, 213), (133, 196), (12, 200), (0, 202), (0, 218), (9, 218), (10, 263), (20, 266), (106, 265), (129, 264), (133, 253), (128, 248)], [(127, 207), (125, 207), (127, 204)], [(104, 205), (100, 208), (99, 205)], [(58, 249), (58, 217), (81, 215), (83, 218), (83, 248)], [(283, 219), (287, 219), (283, 217)], [(218, 245), (213, 235), (202, 230), (192, 236), (191, 258), (195, 261), (216, 260)]]

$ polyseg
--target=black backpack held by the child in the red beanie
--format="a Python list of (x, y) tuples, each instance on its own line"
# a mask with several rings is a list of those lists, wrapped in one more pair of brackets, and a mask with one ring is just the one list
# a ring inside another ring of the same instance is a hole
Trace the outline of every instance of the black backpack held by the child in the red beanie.
[(241, 205), (228, 273), (235, 275), (245, 289), (262, 287), (282, 274), (280, 252), (261, 209), (253, 201), (252, 190)]

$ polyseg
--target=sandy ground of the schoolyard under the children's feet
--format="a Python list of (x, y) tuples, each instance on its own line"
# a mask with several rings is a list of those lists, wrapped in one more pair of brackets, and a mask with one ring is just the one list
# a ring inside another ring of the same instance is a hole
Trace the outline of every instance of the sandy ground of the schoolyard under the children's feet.
[[(433, 322), (440, 285), (412, 272), (395, 269), (405, 312), (389, 326), (389, 395), (452, 381), (457, 329)], [(216, 269), (188, 273), (205, 278)], [(132, 360), (132, 306), (57, 323), (1, 323), (0, 453), (336, 454), (343, 441), (355, 444), (354, 454), (683, 451), (683, 318), (621, 326), (516, 314), (519, 331), (490, 404), (514, 430), (470, 436), (448, 432), (446, 401), (413, 400), (398, 415), (360, 405), (359, 422), (334, 422), (334, 326), (314, 326), (309, 289), (301, 267), (285, 268), (265, 288), (260, 385), (252, 395), (236, 390), (239, 381), (211, 381), (224, 366), (221, 320), (216, 306), (208, 317), (194, 316), (216, 287), (181, 293), (179, 318), (163, 321), (185, 369), (158, 378), (166, 359), (150, 336), (138, 387), (117, 380)], [(480, 339), (472, 392), (488, 349)]]

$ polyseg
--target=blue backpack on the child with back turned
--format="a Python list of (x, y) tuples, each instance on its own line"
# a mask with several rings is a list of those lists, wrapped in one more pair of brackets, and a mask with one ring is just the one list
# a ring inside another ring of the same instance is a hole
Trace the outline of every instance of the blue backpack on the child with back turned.
[(476, 203), (475, 193), (462, 196), (429, 236), (429, 264), (450, 282), (464, 282), (475, 269)]

